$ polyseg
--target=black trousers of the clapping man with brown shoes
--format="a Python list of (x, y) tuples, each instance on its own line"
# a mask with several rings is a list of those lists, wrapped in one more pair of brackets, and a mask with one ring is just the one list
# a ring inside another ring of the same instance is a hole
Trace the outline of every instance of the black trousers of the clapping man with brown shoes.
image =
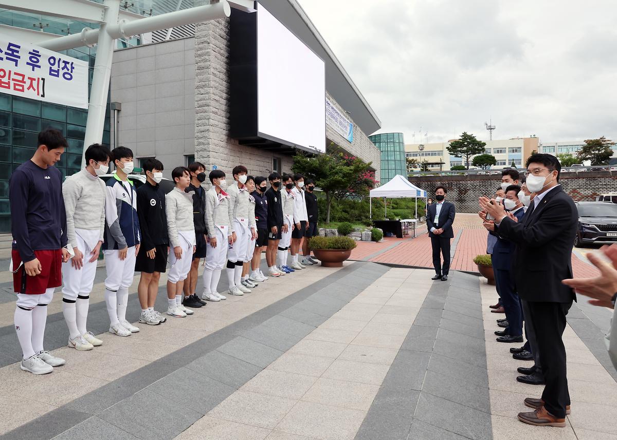
[(525, 320), (532, 322), (536, 333), (537, 354), (546, 382), (542, 400), (547, 411), (559, 418), (566, 417), (566, 405), (570, 404), (566, 377), (566, 348), (563, 346), (562, 336), (566, 328), (566, 315), (571, 306), (572, 301), (569, 303), (524, 301), (523, 304), (523, 308), (528, 312)]

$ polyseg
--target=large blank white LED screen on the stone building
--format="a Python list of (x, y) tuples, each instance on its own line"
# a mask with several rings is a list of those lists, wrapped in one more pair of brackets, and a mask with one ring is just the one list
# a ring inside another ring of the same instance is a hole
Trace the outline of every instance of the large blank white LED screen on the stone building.
[(257, 130), (303, 149), (326, 150), (325, 65), (265, 7), (257, 9)]

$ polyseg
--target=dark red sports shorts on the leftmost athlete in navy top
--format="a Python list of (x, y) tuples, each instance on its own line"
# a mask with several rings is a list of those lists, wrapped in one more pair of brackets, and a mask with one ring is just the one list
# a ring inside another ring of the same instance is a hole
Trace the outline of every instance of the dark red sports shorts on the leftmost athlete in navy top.
[(34, 277), (26, 274), (26, 267), (22, 264), (19, 251), (12, 250), (10, 256), (13, 259), (13, 270), (17, 271), (13, 274), (15, 293), (43, 295), (48, 288), (62, 285), (61, 249), (35, 251), (35, 257), (41, 263), (41, 273)]

